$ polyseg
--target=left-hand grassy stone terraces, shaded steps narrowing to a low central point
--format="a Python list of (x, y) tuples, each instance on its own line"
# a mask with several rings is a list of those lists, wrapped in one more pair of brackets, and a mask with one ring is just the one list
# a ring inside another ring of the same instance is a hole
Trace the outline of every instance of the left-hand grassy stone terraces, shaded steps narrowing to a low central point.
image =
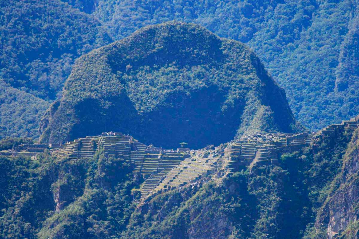
[(106, 157), (121, 157), (131, 163), (134, 166), (133, 172), (140, 173), (146, 179), (141, 187), (143, 195), (157, 186), (185, 157), (189, 157), (186, 152), (148, 148), (132, 137), (120, 133), (75, 139), (53, 153), (75, 161), (93, 157), (100, 148)]

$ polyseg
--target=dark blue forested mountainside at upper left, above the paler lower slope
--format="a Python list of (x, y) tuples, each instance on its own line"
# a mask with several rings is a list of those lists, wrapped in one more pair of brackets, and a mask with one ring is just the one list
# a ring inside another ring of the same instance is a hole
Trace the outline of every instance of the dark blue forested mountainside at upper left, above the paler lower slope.
[(111, 41), (98, 21), (61, 1), (5, 1), (0, 12), (0, 77), (42, 99), (56, 99), (75, 58)]

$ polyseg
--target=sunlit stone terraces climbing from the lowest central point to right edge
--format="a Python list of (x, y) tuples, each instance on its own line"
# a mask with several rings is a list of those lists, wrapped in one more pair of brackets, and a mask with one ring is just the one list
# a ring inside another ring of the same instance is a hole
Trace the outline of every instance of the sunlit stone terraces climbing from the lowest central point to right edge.
[(238, 169), (251, 170), (258, 165), (278, 164), (281, 154), (308, 147), (317, 137), (334, 136), (335, 132), (344, 127), (357, 127), (358, 120), (346, 120), (313, 134), (256, 134), (232, 140), (214, 149), (191, 151), (190, 157), (173, 167), (164, 177), (159, 177), (160, 180), (156, 180), (152, 190), (143, 191), (142, 198), (149, 200), (160, 192), (187, 185), (201, 177), (219, 178)]

